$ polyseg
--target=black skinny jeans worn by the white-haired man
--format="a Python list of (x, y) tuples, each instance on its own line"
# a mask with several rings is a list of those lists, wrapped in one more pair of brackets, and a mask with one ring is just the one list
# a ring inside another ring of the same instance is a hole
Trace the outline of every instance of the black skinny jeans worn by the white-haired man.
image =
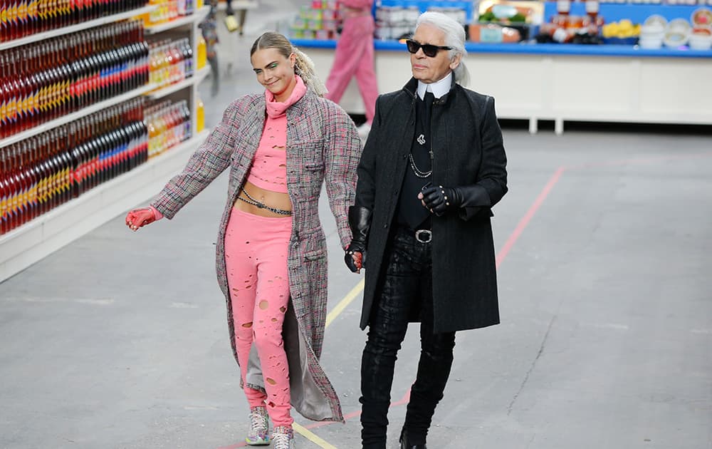
[[(437, 238), (436, 236), (434, 238)], [(455, 333), (433, 334), (431, 244), (397, 229), (387, 272), (372, 311), (361, 360), (361, 439), (364, 449), (385, 449), (388, 408), (398, 350), (413, 308), (420, 309), (421, 352), (404, 428), (409, 443), (424, 444), (452, 366)]]

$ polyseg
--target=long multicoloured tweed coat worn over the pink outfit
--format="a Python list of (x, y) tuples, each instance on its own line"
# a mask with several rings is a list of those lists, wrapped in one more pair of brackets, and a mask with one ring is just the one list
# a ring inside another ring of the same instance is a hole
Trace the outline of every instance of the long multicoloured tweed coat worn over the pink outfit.
[[(311, 89), (286, 114), (287, 190), (293, 207), (293, 227), (288, 252), (290, 306), (283, 336), (290, 369), (291, 402), (306, 418), (342, 421), (338, 397), (319, 364), (326, 319), (327, 254), (318, 201), (325, 182), (340, 242), (346, 247), (351, 240), (347, 210), (355, 197), (361, 145), (355, 125), (344, 110)], [(221, 172), (230, 169), (227, 202), (216, 241), (216, 274), (226, 299), (230, 341), (236, 359), (224, 237), (265, 120), (263, 93), (235, 100), (183, 172), (173, 177), (152, 202), (165, 217), (172, 218)], [(253, 347), (247, 382), (263, 389), (261, 370), (255, 361)]]

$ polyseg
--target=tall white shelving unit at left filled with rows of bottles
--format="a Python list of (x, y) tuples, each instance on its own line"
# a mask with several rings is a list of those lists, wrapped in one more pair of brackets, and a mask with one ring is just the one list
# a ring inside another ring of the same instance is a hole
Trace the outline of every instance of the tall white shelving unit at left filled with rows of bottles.
[[(145, 4), (0, 0), (0, 245), (36, 246), (36, 239), (23, 240), (24, 224), (39, 217), (43, 227), (53, 222), (44, 217), (63, 217), (66, 224), (73, 220), (73, 207), (47, 212), (68, 202), (85, 204), (84, 197), (92, 197), (88, 204), (96, 207), (100, 197), (89, 195), (96, 187), (176, 145), (186, 150), (197, 145), (191, 117), (198, 81), (189, 80), (195, 78), (199, 32), (191, 27), (191, 40), (185, 31), (164, 33), (191, 21), (145, 29), (145, 17), (120, 14), (142, 15)], [(160, 21), (193, 14), (197, 6), (194, 0), (156, 4)], [(207, 12), (201, 9), (192, 21)], [(86, 23), (98, 18), (103, 19)], [(67, 25), (74, 26), (63, 30)], [(57, 32), (42, 33), (48, 30)], [(201, 71), (198, 80), (205, 75)], [(157, 88), (150, 91), (150, 84)], [(177, 86), (162, 90), (168, 85)], [(168, 95), (171, 100), (161, 100)], [(147, 181), (153, 182), (140, 182)], [(0, 262), (12, 257), (0, 253)]]

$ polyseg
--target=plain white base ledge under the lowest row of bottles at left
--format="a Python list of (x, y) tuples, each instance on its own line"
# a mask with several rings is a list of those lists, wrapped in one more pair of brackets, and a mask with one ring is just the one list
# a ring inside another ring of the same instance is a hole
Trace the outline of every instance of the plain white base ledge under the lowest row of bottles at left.
[[(0, 237), (0, 282), (162, 189), (209, 130)], [(127, 231), (128, 232), (128, 231)]]

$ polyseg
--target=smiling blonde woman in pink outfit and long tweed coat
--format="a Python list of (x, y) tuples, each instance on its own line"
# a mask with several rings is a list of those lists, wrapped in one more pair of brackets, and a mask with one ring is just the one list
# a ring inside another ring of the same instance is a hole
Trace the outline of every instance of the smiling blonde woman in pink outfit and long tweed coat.
[[(230, 170), (216, 269), (230, 339), (250, 406), (249, 445), (294, 448), (292, 406), (312, 420), (342, 421), (323, 372), (327, 254), (318, 214), (326, 184), (342, 247), (351, 241), (360, 140), (349, 116), (323, 98), (307, 56), (279, 33), (253, 44), (263, 93), (235, 100), (187, 167), (150, 207), (133, 210), (133, 230), (181, 207)], [(271, 438), (268, 418), (273, 422)]]

